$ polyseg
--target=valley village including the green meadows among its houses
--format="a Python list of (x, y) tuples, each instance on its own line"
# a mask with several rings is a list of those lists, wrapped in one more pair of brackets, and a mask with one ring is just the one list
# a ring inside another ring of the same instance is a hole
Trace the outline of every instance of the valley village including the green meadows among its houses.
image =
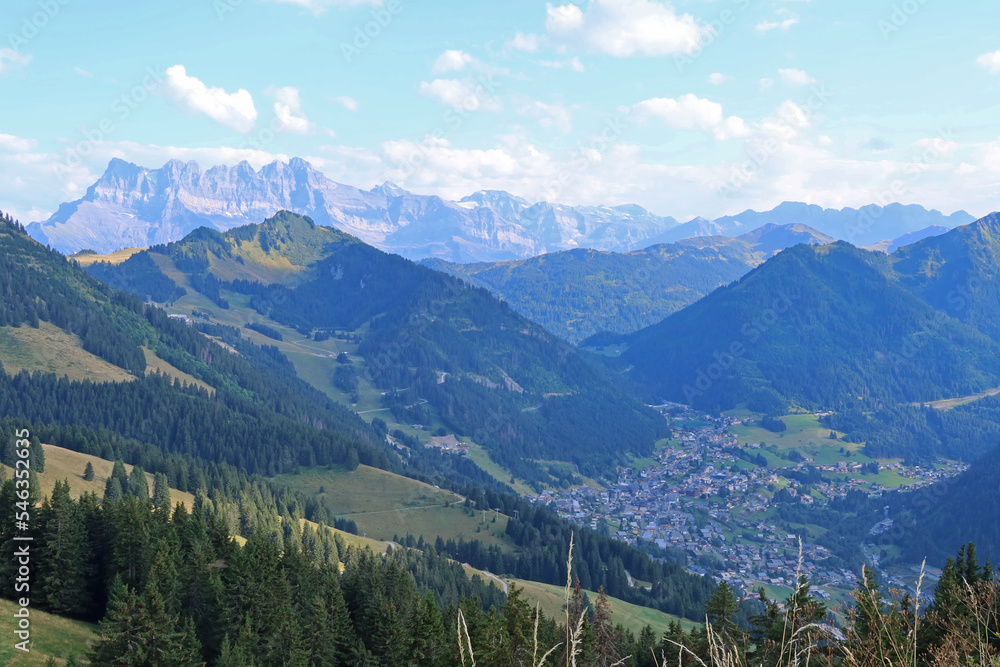
[[(665, 556), (683, 552), (690, 571), (726, 580), (747, 597), (761, 586), (790, 588), (800, 574), (827, 600), (830, 591), (856, 584), (848, 563), (817, 543), (825, 529), (792, 525), (782, 506), (822, 507), (851, 491), (877, 496), (913, 489), (968, 467), (869, 459), (860, 446), (823, 431), (818, 415), (786, 417), (792, 426), (776, 434), (750, 417), (661, 409), (672, 437), (653, 457), (603, 484), (546, 490), (532, 500), (617, 539), (655, 545)], [(862, 549), (878, 565), (878, 551)]]

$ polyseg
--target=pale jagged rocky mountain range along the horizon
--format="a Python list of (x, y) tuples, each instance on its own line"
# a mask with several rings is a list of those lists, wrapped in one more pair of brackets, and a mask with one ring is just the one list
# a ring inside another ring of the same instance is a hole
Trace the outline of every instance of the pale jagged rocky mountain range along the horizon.
[(448, 201), (392, 183), (362, 190), (328, 179), (300, 158), (259, 171), (246, 162), (203, 170), (195, 162), (173, 160), (147, 169), (113, 159), (81, 199), (31, 223), (28, 231), (64, 253), (108, 253), (179, 240), (202, 226), (226, 231), (280, 210), (309, 215), (317, 224), (410, 259), (452, 262), (523, 259), (576, 248), (628, 252), (689, 237), (738, 236), (767, 224), (804, 224), (835, 239), (871, 245), (973, 220), (964, 211), (946, 216), (915, 205), (837, 210), (786, 202), (771, 211), (681, 224), (637, 205), (532, 203), (503, 191)]

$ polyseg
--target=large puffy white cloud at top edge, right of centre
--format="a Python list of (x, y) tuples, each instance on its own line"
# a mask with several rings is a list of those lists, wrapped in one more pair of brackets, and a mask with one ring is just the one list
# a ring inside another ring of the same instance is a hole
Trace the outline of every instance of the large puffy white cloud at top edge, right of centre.
[(554, 41), (618, 58), (691, 53), (708, 30), (655, 0), (590, 0), (586, 11), (572, 4), (547, 7), (545, 28)]

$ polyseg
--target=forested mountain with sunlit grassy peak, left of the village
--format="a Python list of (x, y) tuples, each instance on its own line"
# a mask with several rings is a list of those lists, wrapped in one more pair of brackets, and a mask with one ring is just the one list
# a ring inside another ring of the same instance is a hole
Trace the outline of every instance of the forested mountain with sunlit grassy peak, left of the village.
[(285, 212), (225, 234), (201, 229), (88, 270), (148, 295), (164, 279), (151, 275), (151, 259), (183, 271), (217, 304), (249, 295), (257, 314), (304, 335), (349, 332), (387, 407), (429, 401), (450, 431), (524, 479), (543, 476), (533, 459), (606, 472), (665, 432), (659, 415), (486, 290), (308, 218)]

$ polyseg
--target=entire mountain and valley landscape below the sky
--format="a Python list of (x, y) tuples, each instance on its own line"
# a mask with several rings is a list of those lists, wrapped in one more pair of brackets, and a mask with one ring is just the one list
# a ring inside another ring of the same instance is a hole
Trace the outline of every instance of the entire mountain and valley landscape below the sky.
[(913, 600), (944, 655), (1000, 558), (998, 266), (997, 214), (113, 160), (0, 223), (0, 588), (30, 536), (64, 664), (770, 667)]

